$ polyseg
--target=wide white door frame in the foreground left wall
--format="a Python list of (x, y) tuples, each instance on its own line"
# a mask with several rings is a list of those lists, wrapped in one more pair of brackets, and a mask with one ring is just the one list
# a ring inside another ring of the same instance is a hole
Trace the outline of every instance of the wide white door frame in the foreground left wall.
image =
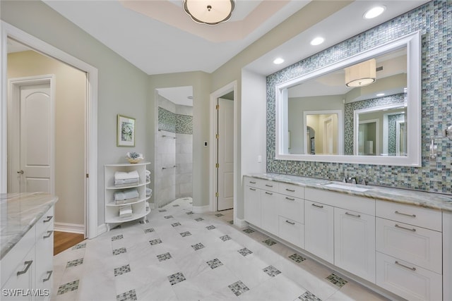
[(7, 103), (6, 91), (8, 80), (6, 66), (8, 60), (7, 39), (28, 45), (41, 54), (67, 63), (86, 73), (86, 103), (85, 103), (85, 237), (95, 238), (102, 232), (102, 225), (97, 226), (97, 68), (71, 56), (56, 47), (34, 37), (23, 30), (4, 21), (0, 23), (0, 193), (7, 192)]

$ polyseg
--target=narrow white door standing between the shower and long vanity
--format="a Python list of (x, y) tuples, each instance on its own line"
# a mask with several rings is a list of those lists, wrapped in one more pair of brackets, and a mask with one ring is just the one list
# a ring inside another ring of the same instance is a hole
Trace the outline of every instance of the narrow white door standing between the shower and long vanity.
[(234, 207), (234, 102), (218, 99), (218, 211)]

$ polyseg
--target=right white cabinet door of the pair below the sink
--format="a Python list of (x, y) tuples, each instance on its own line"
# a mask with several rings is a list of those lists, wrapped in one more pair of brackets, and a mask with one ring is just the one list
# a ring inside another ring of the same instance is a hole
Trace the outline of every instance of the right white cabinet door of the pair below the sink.
[(334, 264), (375, 283), (375, 216), (334, 209)]

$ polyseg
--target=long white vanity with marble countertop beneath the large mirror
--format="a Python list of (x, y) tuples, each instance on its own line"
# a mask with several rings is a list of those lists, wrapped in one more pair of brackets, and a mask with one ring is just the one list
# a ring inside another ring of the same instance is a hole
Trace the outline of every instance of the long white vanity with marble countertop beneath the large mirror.
[(258, 173), (244, 220), (390, 299), (452, 300), (452, 196)]

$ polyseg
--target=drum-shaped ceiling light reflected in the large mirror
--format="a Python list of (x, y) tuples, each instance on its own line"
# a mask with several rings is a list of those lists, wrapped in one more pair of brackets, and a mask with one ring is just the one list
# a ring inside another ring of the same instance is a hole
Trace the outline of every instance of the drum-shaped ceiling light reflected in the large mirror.
[(345, 68), (345, 85), (347, 87), (364, 87), (376, 80), (376, 61), (369, 59)]

